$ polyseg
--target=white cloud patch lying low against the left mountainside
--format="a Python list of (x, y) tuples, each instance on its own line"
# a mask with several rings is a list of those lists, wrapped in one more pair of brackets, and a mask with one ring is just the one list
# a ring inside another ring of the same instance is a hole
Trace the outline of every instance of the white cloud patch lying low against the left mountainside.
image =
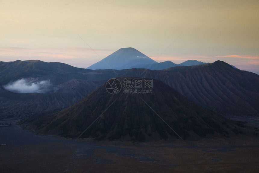
[(39, 81), (34, 78), (19, 79), (7, 84), (4, 88), (13, 93), (50, 93), (55, 91), (50, 80)]

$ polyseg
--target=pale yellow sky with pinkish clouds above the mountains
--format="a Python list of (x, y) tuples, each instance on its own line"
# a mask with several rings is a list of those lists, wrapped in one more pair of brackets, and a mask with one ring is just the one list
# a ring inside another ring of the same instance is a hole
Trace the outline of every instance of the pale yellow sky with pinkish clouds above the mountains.
[(259, 74), (259, 0), (0, 0), (0, 61), (86, 68), (120, 48)]

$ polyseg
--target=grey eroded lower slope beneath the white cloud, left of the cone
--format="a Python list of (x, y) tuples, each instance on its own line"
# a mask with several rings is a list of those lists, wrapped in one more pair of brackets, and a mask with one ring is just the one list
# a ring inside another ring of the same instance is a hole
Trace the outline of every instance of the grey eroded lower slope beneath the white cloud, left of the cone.
[(72, 79), (53, 86), (55, 93), (12, 93), (0, 86), (0, 119), (27, 118), (42, 112), (62, 110), (78, 102), (103, 82)]

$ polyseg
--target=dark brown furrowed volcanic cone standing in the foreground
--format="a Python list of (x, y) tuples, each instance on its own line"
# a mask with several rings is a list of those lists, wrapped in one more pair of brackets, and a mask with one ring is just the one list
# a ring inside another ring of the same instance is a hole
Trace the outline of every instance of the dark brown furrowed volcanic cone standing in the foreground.
[[(125, 78), (118, 79), (123, 85)], [(126, 94), (122, 87), (119, 93), (110, 94), (104, 84), (69, 108), (35, 116), (23, 125), (41, 134), (98, 140), (200, 139), (245, 132), (159, 80), (153, 80), (150, 90)]]

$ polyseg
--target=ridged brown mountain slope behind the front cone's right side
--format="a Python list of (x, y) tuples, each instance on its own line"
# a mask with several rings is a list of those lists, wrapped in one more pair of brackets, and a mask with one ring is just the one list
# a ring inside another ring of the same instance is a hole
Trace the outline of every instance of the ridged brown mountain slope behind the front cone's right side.
[(193, 102), (222, 114), (259, 115), (259, 75), (223, 61), (163, 71), (131, 69), (123, 76), (161, 80)]

